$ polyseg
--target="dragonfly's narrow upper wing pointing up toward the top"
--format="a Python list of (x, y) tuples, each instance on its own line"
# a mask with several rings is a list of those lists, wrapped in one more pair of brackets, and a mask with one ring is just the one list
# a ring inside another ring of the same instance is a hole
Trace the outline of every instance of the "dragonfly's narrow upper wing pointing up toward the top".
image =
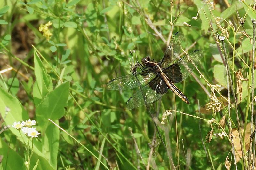
[(169, 44), (169, 47), (165, 50), (164, 56), (159, 62), (162, 68), (168, 67), (173, 63), (173, 61), (175, 61), (178, 58), (180, 54), (182, 41), (183, 41), (182, 32), (177, 32), (173, 36), (172, 41)]

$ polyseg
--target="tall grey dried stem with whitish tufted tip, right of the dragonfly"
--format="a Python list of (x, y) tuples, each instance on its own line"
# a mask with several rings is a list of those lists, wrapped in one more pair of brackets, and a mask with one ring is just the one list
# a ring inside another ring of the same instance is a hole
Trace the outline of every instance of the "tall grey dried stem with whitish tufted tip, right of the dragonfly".
[[(218, 38), (218, 36), (216, 36), (216, 37)], [(238, 115), (238, 110), (237, 110), (236, 94), (235, 94), (235, 91), (233, 89), (233, 82), (232, 82), (230, 70), (229, 70), (229, 67), (228, 67), (228, 58), (227, 58), (227, 52), (226, 52), (226, 47), (225, 47), (225, 42), (224, 42), (225, 37), (219, 36), (219, 40), (222, 41), (222, 47), (223, 47), (224, 57), (225, 57), (225, 64), (226, 64), (226, 69), (227, 69), (227, 73), (228, 73), (227, 77), (228, 77), (228, 80), (229, 80), (229, 83), (230, 83), (229, 87), (231, 89), (232, 96), (233, 96), (233, 99), (234, 99), (234, 104), (235, 104), (236, 121), (237, 121), (237, 124), (238, 124), (238, 134), (239, 134), (239, 141), (240, 141), (240, 146), (241, 146), (241, 151), (242, 151), (243, 165), (244, 165), (244, 169), (247, 169), (244, 147), (243, 147), (243, 142), (242, 142), (241, 125), (240, 125), (240, 120), (239, 120), (239, 115)], [(230, 104), (230, 101), (228, 102), (228, 104)], [(230, 106), (229, 106), (229, 109), (230, 109)], [(230, 110), (229, 110), (229, 113), (230, 113)]]

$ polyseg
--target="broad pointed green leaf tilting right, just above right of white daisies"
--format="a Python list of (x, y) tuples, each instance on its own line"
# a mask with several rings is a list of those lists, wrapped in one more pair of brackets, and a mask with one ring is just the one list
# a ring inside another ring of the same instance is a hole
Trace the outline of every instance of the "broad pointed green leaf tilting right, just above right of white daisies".
[(36, 117), (42, 135), (44, 135), (49, 124), (48, 119), (55, 121), (64, 115), (68, 94), (69, 82), (67, 81), (48, 93), (36, 107)]

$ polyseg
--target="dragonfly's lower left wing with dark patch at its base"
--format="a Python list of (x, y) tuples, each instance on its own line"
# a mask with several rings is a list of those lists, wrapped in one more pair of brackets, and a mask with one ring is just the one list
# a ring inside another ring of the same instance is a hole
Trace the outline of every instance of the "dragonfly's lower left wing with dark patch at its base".
[(167, 93), (168, 88), (158, 74), (154, 79), (152, 79), (145, 87), (138, 90), (127, 102), (127, 109), (131, 110), (133, 108), (142, 106), (144, 104), (153, 103)]

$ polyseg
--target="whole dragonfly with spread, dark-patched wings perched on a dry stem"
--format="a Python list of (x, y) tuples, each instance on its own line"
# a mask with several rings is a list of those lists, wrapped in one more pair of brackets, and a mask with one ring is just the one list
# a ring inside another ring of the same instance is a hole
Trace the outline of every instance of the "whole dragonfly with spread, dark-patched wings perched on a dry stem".
[[(142, 66), (140, 71), (136, 72), (133, 69), (132, 74), (117, 77), (109, 81), (106, 88), (108, 90), (127, 90), (140, 86), (140, 89), (129, 98), (128, 110), (155, 102), (167, 93), (168, 89), (186, 104), (190, 104), (188, 97), (175, 86), (175, 83), (183, 81), (192, 73), (203, 58), (204, 51), (195, 50), (175, 62), (179, 58), (182, 41), (182, 32), (177, 32), (160, 62), (151, 60), (149, 56), (144, 57), (141, 60), (142, 65), (140, 63), (136, 65), (136, 68)], [(146, 85), (141, 87), (143, 84)]]

